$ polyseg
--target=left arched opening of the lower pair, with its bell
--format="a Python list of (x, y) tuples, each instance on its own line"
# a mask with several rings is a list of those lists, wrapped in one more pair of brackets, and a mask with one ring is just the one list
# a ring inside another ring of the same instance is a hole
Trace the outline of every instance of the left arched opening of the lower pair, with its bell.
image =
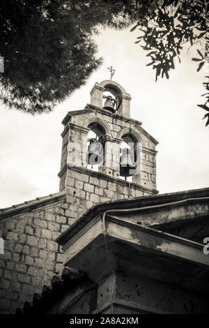
[(87, 135), (86, 167), (98, 172), (103, 165), (105, 131), (98, 122), (91, 122), (88, 128), (91, 130)]

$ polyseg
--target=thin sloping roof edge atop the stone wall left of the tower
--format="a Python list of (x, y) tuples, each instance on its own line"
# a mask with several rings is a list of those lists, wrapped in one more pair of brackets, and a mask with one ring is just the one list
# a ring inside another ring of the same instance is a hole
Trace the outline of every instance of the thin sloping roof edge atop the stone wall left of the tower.
[(15, 204), (11, 207), (0, 209), (0, 220), (20, 214), (22, 212), (31, 211), (32, 209), (36, 209), (38, 207), (43, 207), (48, 204), (54, 204), (54, 202), (60, 202), (62, 200), (64, 201), (65, 196), (65, 192), (52, 193), (44, 197), (37, 197), (34, 200), (28, 200), (24, 203)]

